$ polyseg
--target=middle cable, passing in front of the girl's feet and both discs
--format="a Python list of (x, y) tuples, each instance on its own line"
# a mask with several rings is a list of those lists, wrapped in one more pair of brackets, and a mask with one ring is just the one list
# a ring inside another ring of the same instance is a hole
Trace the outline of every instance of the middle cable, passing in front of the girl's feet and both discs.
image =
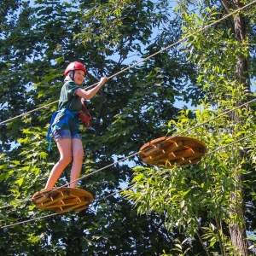
[[(189, 129), (187, 129), (187, 130), (184, 130), (184, 131), (178, 133), (178, 134), (175, 135), (175, 136), (167, 137), (165, 140), (163, 140), (163, 141), (160, 142), (159, 144), (165, 143), (166, 141), (172, 139), (172, 137), (181, 136), (181, 135), (183, 135), (183, 133), (192, 131), (192, 130), (194, 130), (195, 128), (201, 126), (201, 125), (206, 125), (208, 122), (210, 122), (210, 121), (212, 121), (212, 120), (214, 120), (214, 119), (218, 119), (218, 118), (222, 117), (222, 116), (225, 115), (225, 114), (231, 113), (231, 112), (235, 111), (235, 110), (238, 109), (238, 108), (245, 107), (245, 106), (247, 106), (248, 104), (250, 104), (250, 103), (252, 103), (252, 102), (255, 102), (255, 101), (256, 101), (256, 98), (253, 99), (252, 101), (245, 102), (245, 103), (241, 104), (240, 106), (236, 106), (236, 108), (232, 108), (232, 109), (230, 109), (230, 110), (228, 110), (228, 111), (225, 111), (224, 113), (220, 113), (219, 115), (213, 117), (212, 119), (207, 119), (205, 122), (202, 122), (202, 123), (200, 123), (200, 124), (198, 124), (198, 125), (195, 125), (195, 126), (193, 126), (192, 128), (189, 128)], [(242, 140), (242, 139), (241, 139), (241, 140)], [(151, 149), (151, 148), (154, 148), (154, 146), (149, 147), (148, 149)], [(214, 151), (212, 151), (212, 152), (214, 152)], [(91, 175), (94, 175), (94, 174), (96, 174), (97, 172), (102, 172), (103, 170), (107, 169), (108, 167), (114, 166), (114, 165), (116, 165), (116, 164), (118, 164), (119, 162), (122, 162), (122, 161), (124, 161), (124, 160), (128, 160), (128, 159), (130, 159), (131, 157), (136, 156), (136, 155), (139, 154), (139, 153), (140, 153), (140, 151), (138, 151), (138, 152), (136, 152), (136, 153), (134, 153), (134, 154), (130, 154), (130, 155), (126, 156), (125, 158), (121, 159), (121, 160), (118, 160), (118, 161), (113, 162), (112, 164), (109, 164), (108, 166), (104, 166), (104, 167), (102, 167), (102, 168), (100, 168), (100, 169), (98, 169), (98, 170), (96, 170), (96, 171), (94, 171), (94, 172), (90, 172), (90, 173), (88, 173), (88, 174), (85, 174), (83, 177), (79, 177), (78, 179), (74, 180), (72, 183), (74, 183), (74, 182), (76, 182), (76, 181), (79, 181), (79, 180), (82, 180), (82, 179), (84, 179), (85, 177), (90, 177)], [(64, 184), (64, 185), (62, 185), (61, 187), (58, 187), (58, 188), (66, 187), (66, 186), (68, 186), (69, 184), (71, 184), (71, 183), (66, 183), (66, 184)], [(55, 190), (57, 190), (57, 189), (53, 189), (53, 190), (49, 191), (48, 194), (52, 193), (52, 192), (55, 191)], [(7, 208), (7, 207), (13, 207), (13, 206), (15, 206), (16, 204), (23, 203), (23, 202), (26, 202), (26, 201), (31, 201), (31, 199), (26, 199), (26, 200), (24, 200), (24, 201), (17, 201), (17, 202), (15, 202), (15, 203), (11, 204), (11, 205), (7, 205), (7, 206), (0, 207), (0, 210), (3, 209), (3, 208)]]

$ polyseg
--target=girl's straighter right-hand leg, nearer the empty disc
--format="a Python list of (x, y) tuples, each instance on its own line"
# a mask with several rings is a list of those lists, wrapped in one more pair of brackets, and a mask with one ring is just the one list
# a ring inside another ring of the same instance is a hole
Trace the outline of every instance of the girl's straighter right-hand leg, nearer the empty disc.
[(77, 179), (79, 178), (83, 158), (84, 158), (84, 149), (80, 139), (73, 138), (72, 139), (72, 149), (73, 149), (73, 165), (71, 169), (70, 175), (70, 188), (75, 188), (77, 186)]

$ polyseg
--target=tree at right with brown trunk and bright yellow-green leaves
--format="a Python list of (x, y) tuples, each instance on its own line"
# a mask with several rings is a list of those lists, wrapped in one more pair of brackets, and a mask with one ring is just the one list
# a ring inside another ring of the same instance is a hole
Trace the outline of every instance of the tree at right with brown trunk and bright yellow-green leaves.
[[(141, 213), (166, 211), (170, 230), (177, 225), (189, 239), (184, 241), (184, 248), (195, 250), (196, 235), (208, 255), (247, 255), (252, 253), (249, 245), (253, 247), (247, 234), (254, 230), (246, 215), (254, 205), (255, 119), (254, 105), (242, 103), (253, 96), (248, 89), (254, 72), (247, 64), (255, 59), (250, 50), (255, 40), (250, 33), (255, 27), (254, 7), (216, 23), (231, 9), (241, 9), (246, 3), (202, 2), (195, 10), (189, 3), (181, 2), (178, 10), (183, 17), (189, 59), (197, 64), (197, 82), (206, 98), (195, 109), (195, 116), (184, 110), (170, 122), (170, 134), (182, 132), (199, 138), (210, 153), (200, 164), (188, 168), (149, 169), (147, 174), (138, 168), (134, 189), (140, 191), (128, 195), (136, 204), (143, 201), (138, 208)], [(207, 30), (198, 32), (210, 24)], [(195, 131), (190, 131), (193, 127)], [(181, 245), (177, 250), (183, 252)]]

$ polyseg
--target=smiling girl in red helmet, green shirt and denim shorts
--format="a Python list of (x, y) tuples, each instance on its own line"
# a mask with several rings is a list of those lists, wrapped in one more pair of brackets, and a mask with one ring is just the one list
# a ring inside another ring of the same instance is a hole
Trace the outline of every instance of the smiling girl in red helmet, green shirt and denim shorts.
[(77, 186), (77, 179), (81, 172), (84, 157), (84, 149), (79, 136), (78, 119), (78, 112), (83, 109), (81, 98), (90, 100), (108, 81), (108, 78), (103, 77), (93, 89), (83, 90), (79, 85), (84, 83), (84, 77), (87, 74), (84, 65), (78, 61), (70, 63), (65, 70), (66, 79), (61, 89), (59, 111), (51, 125), (53, 137), (60, 152), (60, 160), (51, 170), (45, 189), (53, 188), (57, 179), (61, 176), (61, 172), (72, 160), (70, 188)]

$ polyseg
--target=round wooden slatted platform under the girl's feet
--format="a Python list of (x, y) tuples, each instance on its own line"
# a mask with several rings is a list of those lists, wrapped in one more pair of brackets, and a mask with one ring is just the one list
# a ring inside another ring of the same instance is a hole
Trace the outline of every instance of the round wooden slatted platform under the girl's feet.
[(53, 188), (43, 189), (32, 196), (32, 202), (39, 209), (53, 210), (56, 213), (79, 212), (92, 202), (93, 196), (83, 189)]

